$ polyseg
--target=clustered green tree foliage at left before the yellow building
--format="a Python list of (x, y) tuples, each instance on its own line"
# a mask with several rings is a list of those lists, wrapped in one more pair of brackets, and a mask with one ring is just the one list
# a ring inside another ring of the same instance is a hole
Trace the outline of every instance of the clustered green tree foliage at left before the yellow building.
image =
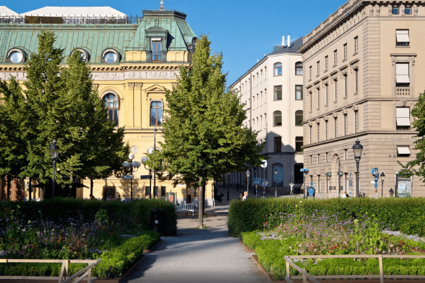
[[(28, 80), (22, 90), (12, 78), (2, 82), (4, 111), (17, 127), (18, 140), (24, 144), (18, 152), (25, 156), (19, 177), (30, 176), (42, 184), (52, 179), (49, 145), (57, 139), (60, 146), (57, 161), (59, 175), (106, 177), (119, 174), (120, 164), (128, 154), (123, 143), (123, 129), (107, 119), (104, 104), (97, 96), (90, 68), (76, 50), (64, 61), (63, 50), (54, 47), (53, 32), (41, 31), (37, 53), (25, 66)], [(0, 138), (9, 139), (10, 125), (2, 122)], [(13, 136), (12, 136), (13, 137)], [(17, 154), (15, 154), (16, 156)], [(11, 155), (0, 153), (0, 160)], [(13, 171), (15, 172), (15, 171)], [(57, 178), (59, 183), (71, 180)]]

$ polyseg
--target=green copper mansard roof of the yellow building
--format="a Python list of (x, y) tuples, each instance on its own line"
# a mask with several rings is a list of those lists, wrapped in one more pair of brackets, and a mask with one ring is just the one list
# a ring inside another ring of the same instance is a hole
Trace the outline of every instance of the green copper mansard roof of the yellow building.
[[(56, 47), (64, 49), (67, 57), (74, 48), (89, 52), (90, 64), (105, 64), (102, 53), (112, 48), (125, 61), (126, 50), (150, 50), (150, 38), (166, 34), (168, 51), (190, 51), (196, 37), (186, 22), (186, 15), (178, 11), (143, 11), (138, 24), (0, 24), (0, 64), (12, 64), (7, 53), (13, 48), (24, 50), (29, 56), (37, 51), (37, 34), (41, 29), (54, 31)], [(146, 32), (148, 30), (148, 32)]]

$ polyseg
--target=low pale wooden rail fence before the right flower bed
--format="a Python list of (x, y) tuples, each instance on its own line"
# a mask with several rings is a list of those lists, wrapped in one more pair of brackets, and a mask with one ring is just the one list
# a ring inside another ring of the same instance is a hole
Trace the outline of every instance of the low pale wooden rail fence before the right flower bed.
[[(404, 278), (404, 279), (425, 279), (425, 275), (385, 275), (382, 265), (382, 258), (423, 258), (424, 256), (416, 255), (306, 255), (306, 256), (284, 256), (286, 261), (286, 276), (287, 283), (293, 283), (292, 279), (303, 279), (303, 283), (307, 283), (307, 279), (313, 283), (320, 283), (317, 279), (361, 279), (361, 278), (378, 278), (380, 283), (384, 283), (385, 278)], [(379, 261), (379, 275), (310, 275), (305, 269), (297, 266), (291, 259), (295, 258), (377, 258)], [(299, 271), (302, 276), (291, 276), (289, 266)]]

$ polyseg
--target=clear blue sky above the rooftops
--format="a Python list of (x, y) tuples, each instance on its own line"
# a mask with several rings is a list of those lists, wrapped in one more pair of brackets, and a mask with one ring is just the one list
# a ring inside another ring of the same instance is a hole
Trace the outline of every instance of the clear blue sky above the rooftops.
[[(348, 0), (164, 0), (165, 9), (187, 15), (192, 30), (209, 34), (213, 52), (223, 53), (223, 71), (228, 85), (257, 63), (257, 59), (280, 45), (282, 35), (291, 41), (304, 36)], [(45, 6), (110, 6), (127, 15), (142, 15), (143, 10), (159, 9), (159, 0), (82, 1), (44, 0), (4, 3), (9, 9), (24, 13)]]

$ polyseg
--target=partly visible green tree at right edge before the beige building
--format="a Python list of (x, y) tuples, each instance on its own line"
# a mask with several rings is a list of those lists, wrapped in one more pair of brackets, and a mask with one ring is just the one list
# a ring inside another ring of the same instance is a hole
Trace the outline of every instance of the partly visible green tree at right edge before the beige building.
[(405, 177), (416, 175), (425, 182), (425, 92), (420, 93), (419, 100), (410, 113), (416, 118), (412, 122), (412, 127), (417, 131), (417, 135), (414, 137), (418, 137), (418, 139), (414, 142), (414, 149), (418, 152), (415, 160), (409, 161), (405, 165), (399, 162), (403, 167), (399, 174)]

